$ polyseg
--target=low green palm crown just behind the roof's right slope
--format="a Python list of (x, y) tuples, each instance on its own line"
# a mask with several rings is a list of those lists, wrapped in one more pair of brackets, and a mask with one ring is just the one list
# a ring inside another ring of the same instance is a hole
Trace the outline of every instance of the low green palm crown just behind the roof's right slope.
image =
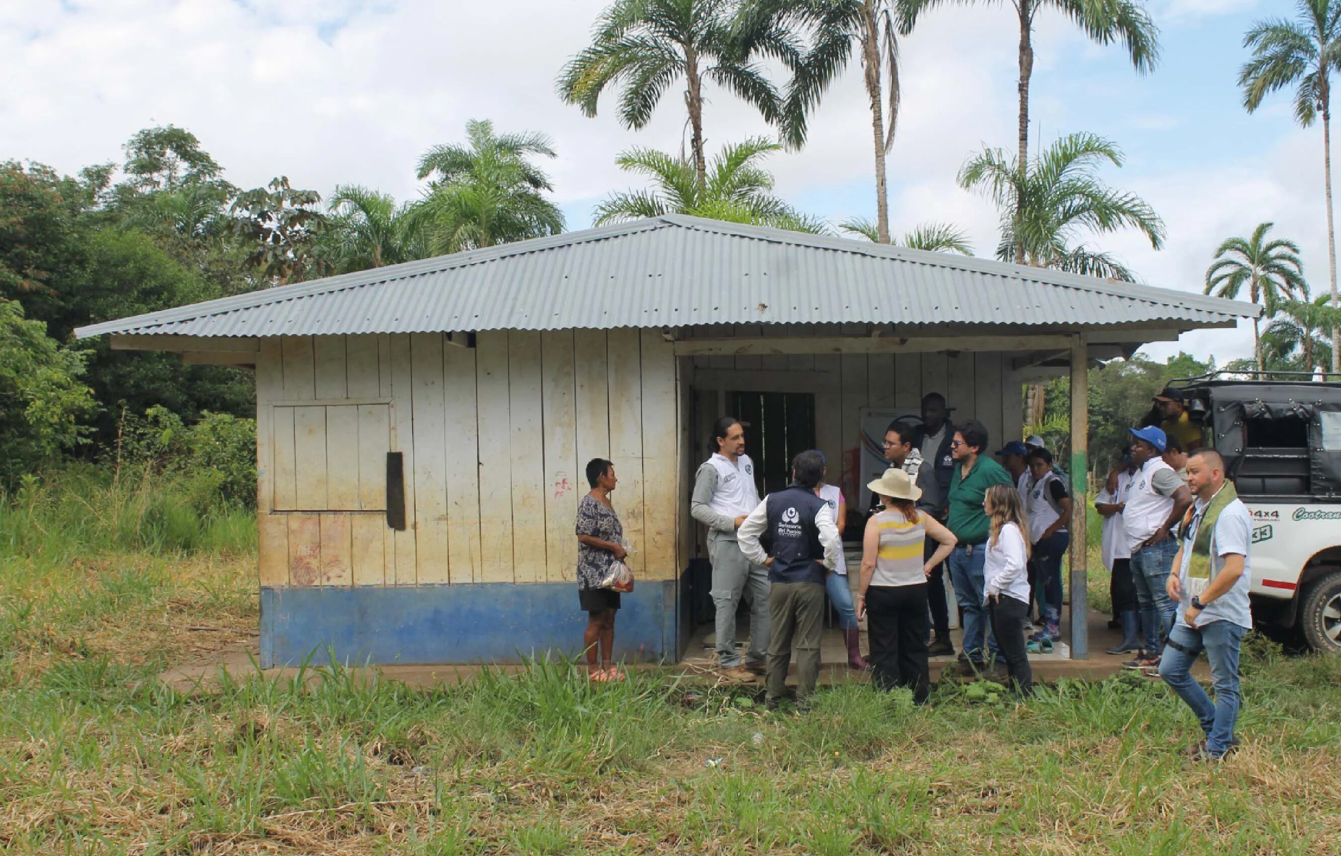
[(1070, 134), (1026, 166), (1000, 149), (980, 152), (959, 170), (959, 185), (996, 204), (998, 259), (1132, 282), (1136, 276), (1117, 259), (1074, 243), (1081, 232), (1134, 228), (1155, 250), (1164, 244), (1164, 221), (1141, 197), (1106, 186), (1098, 177), (1104, 164), (1122, 165), (1116, 145), (1094, 134)]

